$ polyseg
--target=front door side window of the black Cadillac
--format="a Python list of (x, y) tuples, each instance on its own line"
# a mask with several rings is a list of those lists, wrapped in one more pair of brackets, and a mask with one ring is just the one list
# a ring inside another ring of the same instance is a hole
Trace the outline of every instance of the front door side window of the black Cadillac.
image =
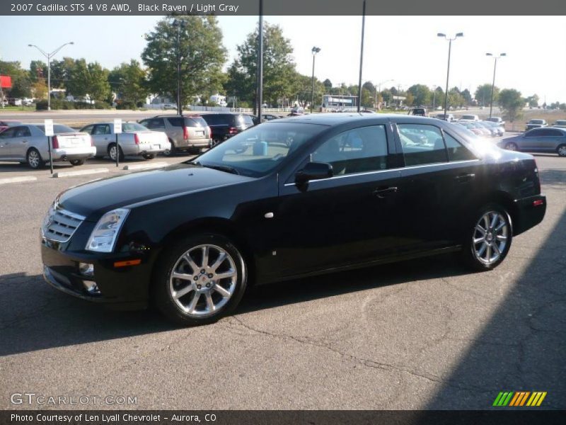
[(334, 174), (387, 168), (387, 136), (383, 125), (354, 128), (327, 140), (311, 155), (313, 162), (332, 164)]

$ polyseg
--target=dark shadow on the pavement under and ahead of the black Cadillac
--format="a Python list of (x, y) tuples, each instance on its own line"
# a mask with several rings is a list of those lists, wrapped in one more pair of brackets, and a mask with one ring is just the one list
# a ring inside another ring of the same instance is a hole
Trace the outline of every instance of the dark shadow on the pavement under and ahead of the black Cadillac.
[[(386, 285), (468, 273), (450, 255), (252, 288), (234, 314)], [(404, 265), (405, 264), (405, 265)], [(330, 278), (329, 278), (330, 277)], [(0, 276), (0, 356), (178, 329), (154, 310), (122, 312), (51, 288), (42, 276)]]

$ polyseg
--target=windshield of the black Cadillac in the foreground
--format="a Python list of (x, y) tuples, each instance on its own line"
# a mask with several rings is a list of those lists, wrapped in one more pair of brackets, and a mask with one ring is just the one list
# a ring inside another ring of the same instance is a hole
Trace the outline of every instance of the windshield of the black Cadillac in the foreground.
[(262, 177), (325, 128), (297, 123), (256, 125), (188, 163), (224, 167), (243, 176)]

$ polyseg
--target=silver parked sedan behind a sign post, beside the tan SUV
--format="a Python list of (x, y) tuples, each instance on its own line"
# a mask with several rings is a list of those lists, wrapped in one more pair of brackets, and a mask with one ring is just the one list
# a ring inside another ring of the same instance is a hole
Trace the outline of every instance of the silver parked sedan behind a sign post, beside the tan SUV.
[[(108, 155), (116, 161), (116, 133), (114, 123), (89, 124), (81, 128), (92, 136), (96, 147), (96, 157)], [(125, 155), (136, 155), (145, 159), (154, 159), (156, 154), (171, 149), (171, 143), (163, 132), (151, 131), (138, 123), (122, 123), (122, 133), (118, 136), (120, 160)]]

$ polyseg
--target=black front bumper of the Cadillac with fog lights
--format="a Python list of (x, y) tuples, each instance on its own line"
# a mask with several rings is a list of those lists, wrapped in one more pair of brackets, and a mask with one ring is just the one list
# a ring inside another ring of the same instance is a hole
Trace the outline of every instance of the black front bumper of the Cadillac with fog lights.
[[(64, 293), (120, 310), (139, 310), (148, 305), (149, 264), (141, 261), (137, 266), (115, 267), (116, 261), (132, 259), (131, 254), (68, 252), (64, 251), (64, 244), (42, 238), (41, 256), (43, 277)], [(93, 264), (93, 276), (83, 276), (79, 263)], [(97, 290), (88, 290), (93, 283)]]

